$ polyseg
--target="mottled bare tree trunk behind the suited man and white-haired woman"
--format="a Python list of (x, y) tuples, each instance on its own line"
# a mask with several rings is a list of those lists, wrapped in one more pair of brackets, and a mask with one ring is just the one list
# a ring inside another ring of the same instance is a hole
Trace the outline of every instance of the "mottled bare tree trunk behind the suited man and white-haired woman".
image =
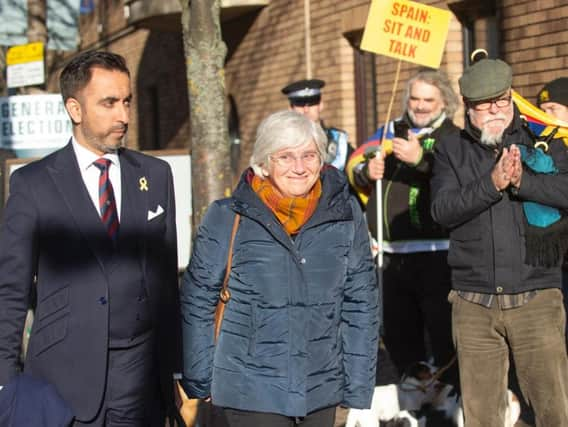
[[(230, 194), (220, 0), (180, 0), (191, 120), (193, 230), (211, 202)], [(183, 195), (182, 195), (183, 197)]]

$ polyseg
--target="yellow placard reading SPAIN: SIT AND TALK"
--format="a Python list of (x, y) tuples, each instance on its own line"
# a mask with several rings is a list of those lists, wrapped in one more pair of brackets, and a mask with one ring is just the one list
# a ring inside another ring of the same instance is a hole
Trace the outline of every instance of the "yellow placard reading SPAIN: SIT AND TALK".
[(361, 49), (438, 68), (446, 44), (448, 10), (406, 0), (373, 0)]

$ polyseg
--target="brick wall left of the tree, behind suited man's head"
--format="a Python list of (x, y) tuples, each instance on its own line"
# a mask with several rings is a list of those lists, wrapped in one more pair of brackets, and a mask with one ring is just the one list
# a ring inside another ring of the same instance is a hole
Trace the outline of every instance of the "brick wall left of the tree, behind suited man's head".
[[(127, 146), (141, 150), (189, 148), (189, 107), (182, 35), (129, 27), (122, 1), (103, 1), (81, 16), (80, 50), (102, 49), (125, 57), (133, 103)], [(49, 89), (70, 56), (58, 56)]]

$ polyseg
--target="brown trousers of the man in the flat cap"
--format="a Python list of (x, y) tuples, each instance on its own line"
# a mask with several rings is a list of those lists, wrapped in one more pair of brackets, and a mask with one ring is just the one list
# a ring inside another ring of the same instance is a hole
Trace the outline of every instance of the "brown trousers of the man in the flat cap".
[(544, 289), (525, 305), (502, 310), (452, 297), (466, 427), (505, 422), (509, 354), (537, 427), (568, 426), (566, 315), (560, 289)]

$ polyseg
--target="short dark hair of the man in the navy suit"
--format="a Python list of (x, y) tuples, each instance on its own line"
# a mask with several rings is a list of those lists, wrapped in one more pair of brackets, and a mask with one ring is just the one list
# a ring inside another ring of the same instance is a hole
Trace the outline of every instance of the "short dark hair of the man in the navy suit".
[(81, 53), (69, 61), (59, 76), (59, 89), (63, 102), (76, 97), (77, 93), (89, 84), (92, 69), (95, 67), (119, 71), (130, 77), (126, 61), (116, 53), (93, 50)]

